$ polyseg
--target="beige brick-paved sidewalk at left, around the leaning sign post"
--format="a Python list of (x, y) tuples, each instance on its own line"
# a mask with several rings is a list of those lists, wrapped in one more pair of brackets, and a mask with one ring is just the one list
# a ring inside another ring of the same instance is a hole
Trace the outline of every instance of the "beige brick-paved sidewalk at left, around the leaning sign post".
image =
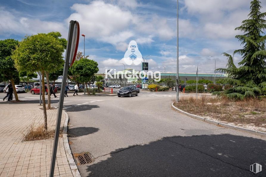
[[(43, 111), (39, 109), (42, 106), (1, 101), (0, 107), (0, 176), (49, 176), (54, 140), (23, 141), (29, 125), (43, 123)], [(57, 109), (47, 110), (48, 129), (55, 129), (56, 116)], [(67, 121), (68, 115), (63, 111), (61, 127), (64, 123), (67, 126)], [(67, 137), (63, 135), (58, 142), (54, 176), (79, 174), (77, 169), (78, 174), (73, 170), (75, 164), (69, 150)], [(71, 157), (71, 165), (67, 157)]]

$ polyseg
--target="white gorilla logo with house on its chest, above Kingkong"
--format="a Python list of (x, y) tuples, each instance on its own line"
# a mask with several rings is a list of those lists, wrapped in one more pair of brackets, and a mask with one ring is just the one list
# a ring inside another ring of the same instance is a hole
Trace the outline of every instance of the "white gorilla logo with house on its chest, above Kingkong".
[(131, 40), (129, 45), (127, 46), (124, 60), (127, 65), (131, 65), (132, 63), (139, 65), (141, 63), (142, 55), (135, 40)]

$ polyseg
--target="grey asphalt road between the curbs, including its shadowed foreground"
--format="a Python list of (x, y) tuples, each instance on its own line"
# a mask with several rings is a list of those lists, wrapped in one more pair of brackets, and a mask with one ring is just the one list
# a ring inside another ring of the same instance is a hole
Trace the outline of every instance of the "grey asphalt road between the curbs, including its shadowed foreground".
[[(38, 96), (19, 94), (32, 102)], [(71, 151), (94, 158), (78, 166), (81, 175), (266, 176), (266, 138), (182, 115), (172, 109), (173, 99), (171, 91), (66, 97)], [(58, 97), (52, 103), (57, 106)], [(254, 163), (261, 172), (250, 171)]]

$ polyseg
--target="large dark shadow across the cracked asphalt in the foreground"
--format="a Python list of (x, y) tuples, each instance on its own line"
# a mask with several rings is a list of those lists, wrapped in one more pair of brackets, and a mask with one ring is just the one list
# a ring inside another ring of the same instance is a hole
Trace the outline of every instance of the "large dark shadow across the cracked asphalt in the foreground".
[[(83, 176), (266, 176), (265, 150), (264, 140), (231, 134), (164, 137), (79, 168)], [(254, 163), (261, 172), (250, 171)]]

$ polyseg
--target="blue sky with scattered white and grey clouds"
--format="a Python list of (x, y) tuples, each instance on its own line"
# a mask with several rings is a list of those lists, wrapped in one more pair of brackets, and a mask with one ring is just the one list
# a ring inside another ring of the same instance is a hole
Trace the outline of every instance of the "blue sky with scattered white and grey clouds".
[[(242, 48), (234, 30), (248, 19), (251, 0), (179, 0), (179, 73), (214, 73), (225, 68), (227, 58)], [(266, 12), (266, 1), (261, 12)], [(106, 69), (133, 68), (123, 59), (127, 46), (135, 40), (149, 63), (150, 71), (176, 73), (177, 0), (9, 0), (0, 1), (0, 40), (21, 41), (26, 35), (59, 31), (67, 39), (69, 21), (80, 24), (78, 51)], [(64, 56), (65, 54), (63, 54)], [(213, 56), (213, 57), (209, 57)], [(215, 65), (216, 60), (216, 65)], [(234, 55), (234, 63), (241, 56)], [(163, 66), (162, 66), (163, 65)]]

